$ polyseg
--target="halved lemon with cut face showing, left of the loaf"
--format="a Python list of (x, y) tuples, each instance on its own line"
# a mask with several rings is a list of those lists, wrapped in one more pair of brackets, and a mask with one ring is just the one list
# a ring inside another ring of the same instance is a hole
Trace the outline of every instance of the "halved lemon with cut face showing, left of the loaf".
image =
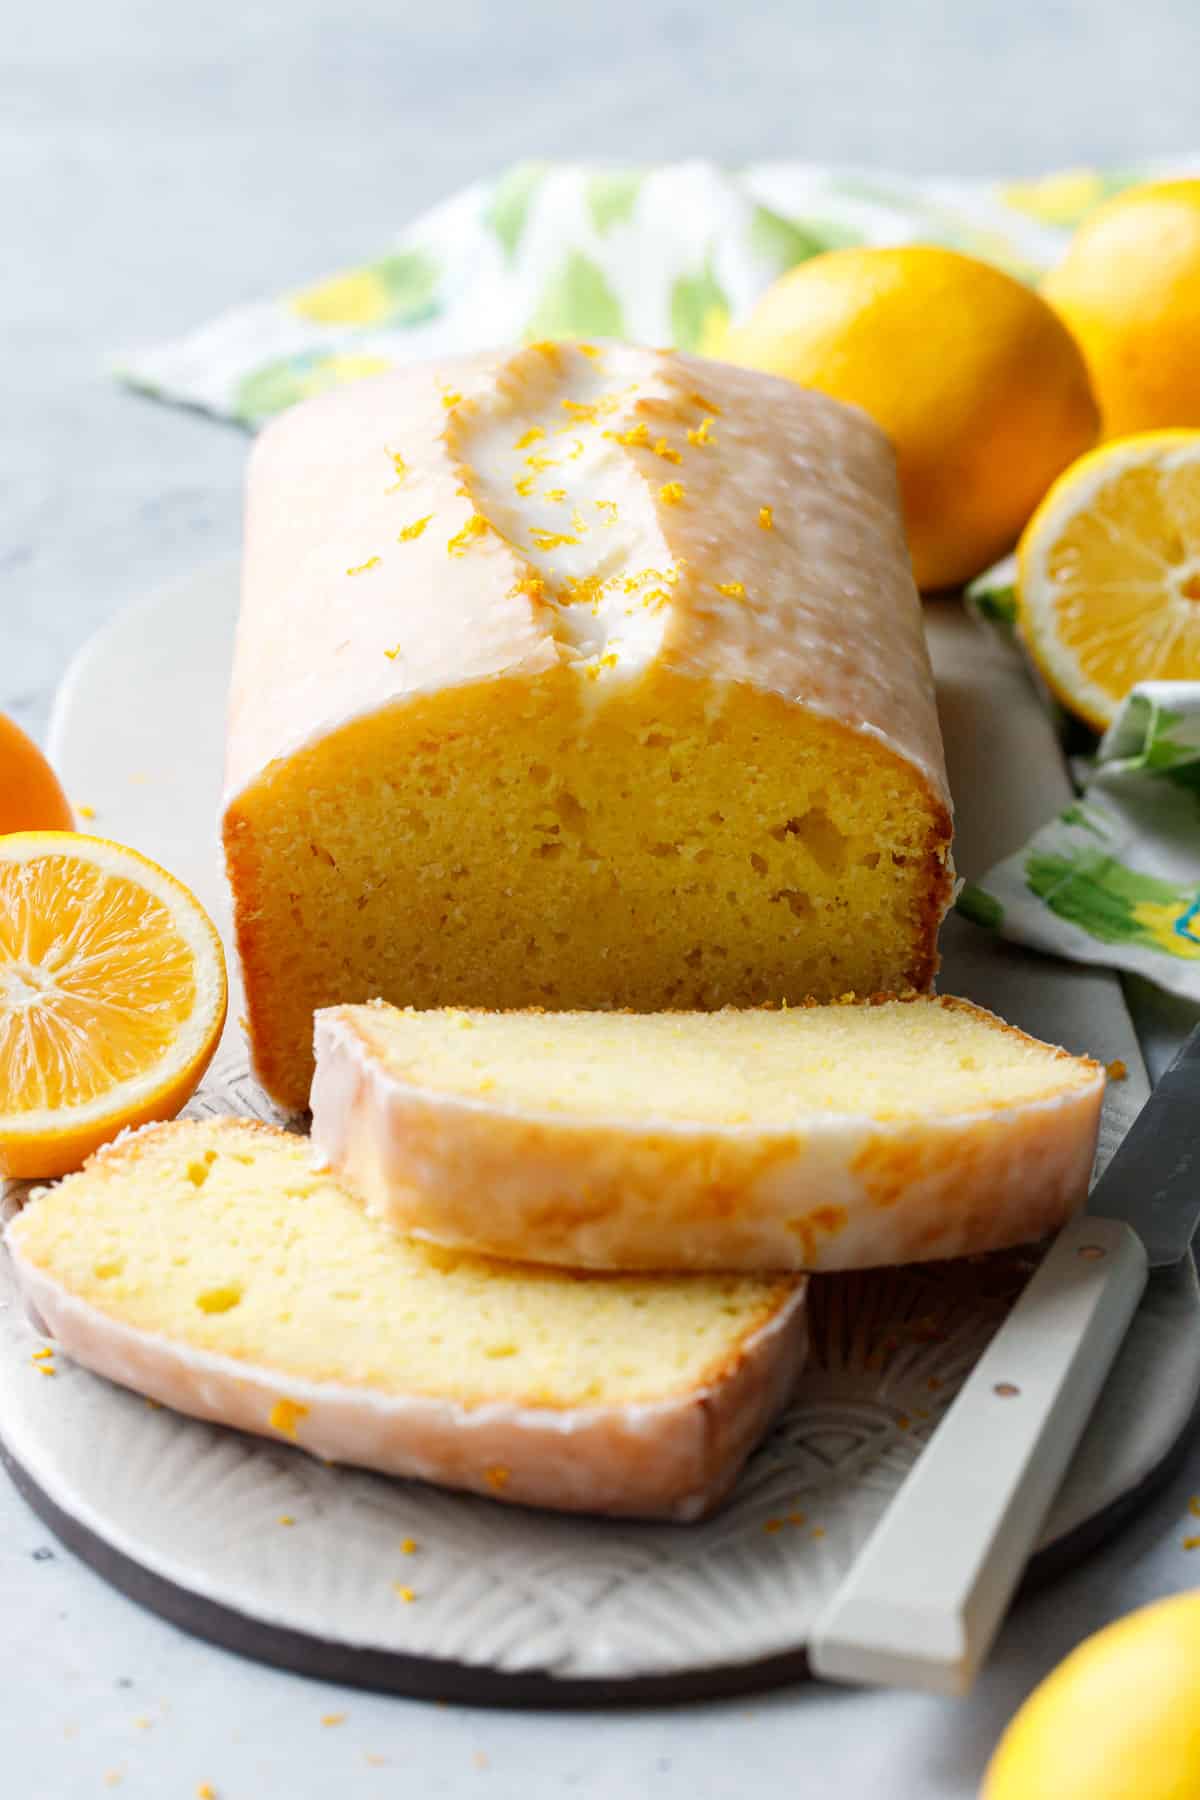
[(221, 940), (173, 875), (103, 837), (0, 837), (2, 1175), (67, 1174), (173, 1118), (225, 1006)]

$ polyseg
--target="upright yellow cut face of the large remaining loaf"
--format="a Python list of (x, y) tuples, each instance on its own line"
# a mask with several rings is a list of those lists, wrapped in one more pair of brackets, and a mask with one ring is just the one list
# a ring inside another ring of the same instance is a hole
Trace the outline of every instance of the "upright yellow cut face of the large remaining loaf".
[(410, 700), (230, 808), (277, 1098), (308, 1100), (313, 1010), (374, 995), (707, 1010), (928, 985), (948, 824), (910, 765), (745, 686), (594, 697), (556, 670)]

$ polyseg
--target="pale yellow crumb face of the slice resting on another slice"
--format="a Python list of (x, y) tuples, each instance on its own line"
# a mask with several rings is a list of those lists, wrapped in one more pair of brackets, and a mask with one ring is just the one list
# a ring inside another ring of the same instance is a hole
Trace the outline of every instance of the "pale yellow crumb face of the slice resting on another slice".
[(1088, 1064), (941, 999), (649, 1015), (367, 1006), (353, 1019), (412, 1087), (587, 1120), (927, 1118), (1094, 1080)]

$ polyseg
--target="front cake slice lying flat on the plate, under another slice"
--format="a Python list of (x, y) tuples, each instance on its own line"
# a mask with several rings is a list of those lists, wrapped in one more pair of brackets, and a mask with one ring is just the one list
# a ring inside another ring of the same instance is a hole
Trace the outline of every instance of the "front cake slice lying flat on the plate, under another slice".
[(36, 1193), (7, 1244), (77, 1363), (315, 1456), (497, 1499), (693, 1519), (804, 1357), (804, 1282), (579, 1276), (412, 1244), (309, 1147), (155, 1125)]

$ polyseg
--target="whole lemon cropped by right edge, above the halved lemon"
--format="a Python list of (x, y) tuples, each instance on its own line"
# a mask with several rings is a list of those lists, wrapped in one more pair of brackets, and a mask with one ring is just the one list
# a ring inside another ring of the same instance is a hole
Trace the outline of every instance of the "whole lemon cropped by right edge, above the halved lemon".
[(1099, 207), (1042, 292), (1083, 347), (1106, 437), (1200, 425), (1200, 180)]

